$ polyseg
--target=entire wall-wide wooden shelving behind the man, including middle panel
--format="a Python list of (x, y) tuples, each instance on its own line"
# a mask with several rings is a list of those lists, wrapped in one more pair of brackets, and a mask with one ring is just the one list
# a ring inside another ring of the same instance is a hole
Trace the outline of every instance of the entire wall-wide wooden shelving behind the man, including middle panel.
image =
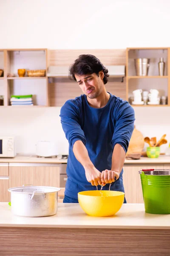
[[(108, 67), (126, 66), (123, 82), (120, 78), (109, 77), (106, 90), (116, 96), (129, 100), (133, 90), (157, 89), (160, 96), (167, 96), (167, 105), (132, 105), (133, 107), (170, 106), (170, 48), (127, 48), (96, 50), (49, 50), (49, 49), (0, 49), (0, 95), (4, 96), (4, 106), (9, 108), (40, 108), (45, 106), (62, 106), (66, 100), (82, 94), (75, 81), (68, 79), (68, 67), (80, 54), (93, 54)], [(164, 76), (159, 76), (158, 62), (165, 61)], [(150, 58), (148, 76), (136, 76), (134, 58)], [(60, 73), (49, 75), (49, 67), (58, 67)], [(44, 77), (19, 77), (18, 69), (45, 69)], [(14, 77), (8, 77), (13, 73)], [(118, 77), (118, 76), (117, 76)], [(10, 105), (11, 95), (32, 94), (34, 106)]]

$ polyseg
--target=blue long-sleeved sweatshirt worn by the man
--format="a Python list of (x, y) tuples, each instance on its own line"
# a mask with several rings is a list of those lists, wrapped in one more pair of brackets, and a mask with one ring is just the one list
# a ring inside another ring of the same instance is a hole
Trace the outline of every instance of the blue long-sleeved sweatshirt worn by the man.
[[(69, 142), (65, 195), (77, 199), (78, 192), (94, 190), (96, 186), (87, 181), (85, 169), (74, 156), (74, 143), (77, 140), (84, 143), (91, 162), (100, 172), (111, 170), (114, 146), (120, 144), (127, 152), (134, 129), (134, 110), (127, 101), (111, 93), (104, 108), (92, 108), (84, 94), (65, 102), (60, 117)], [(111, 190), (124, 192), (122, 173), (123, 169), (119, 179), (111, 185)], [(108, 187), (107, 184), (103, 189), (108, 190)]]

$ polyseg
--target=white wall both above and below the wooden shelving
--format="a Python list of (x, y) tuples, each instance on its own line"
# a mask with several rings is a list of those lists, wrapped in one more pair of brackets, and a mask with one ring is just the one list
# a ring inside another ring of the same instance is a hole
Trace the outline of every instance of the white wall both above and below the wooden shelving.
[[(167, 0), (1, 0), (0, 10), (0, 49), (170, 47)], [(170, 141), (170, 108), (135, 112), (144, 136)], [(37, 140), (53, 138), (61, 152), (68, 148), (59, 108), (0, 109), (0, 135), (16, 137), (17, 153), (34, 154)]]

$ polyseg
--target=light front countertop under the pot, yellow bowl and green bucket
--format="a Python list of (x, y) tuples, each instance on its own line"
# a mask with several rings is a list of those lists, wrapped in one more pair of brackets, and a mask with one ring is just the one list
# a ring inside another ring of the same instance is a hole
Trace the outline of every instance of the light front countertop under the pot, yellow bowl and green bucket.
[(0, 203), (0, 227), (170, 230), (170, 215), (145, 213), (144, 204), (123, 204), (112, 217), (91, 217), (83, 212), (79, 204), (60, 203), (54, 216), (27, 218), (13, 215), (8, 203)]

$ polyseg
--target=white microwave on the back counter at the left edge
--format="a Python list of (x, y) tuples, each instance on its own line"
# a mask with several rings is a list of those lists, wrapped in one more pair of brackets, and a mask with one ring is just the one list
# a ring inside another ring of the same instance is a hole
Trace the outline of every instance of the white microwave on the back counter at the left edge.
[(0, 157), (15, 157), (14, 137), (0, 137)]

